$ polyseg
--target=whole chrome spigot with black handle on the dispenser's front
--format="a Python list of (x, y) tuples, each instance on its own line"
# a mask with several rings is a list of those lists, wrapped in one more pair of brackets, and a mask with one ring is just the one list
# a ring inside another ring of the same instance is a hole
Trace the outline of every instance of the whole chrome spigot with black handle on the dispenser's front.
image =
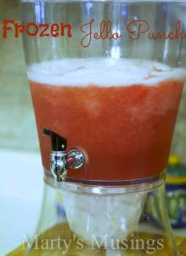
[(51, 137), (50, 171), (57, 182), (65, 181), (68, 169), (79, 170), (85, 164), (85, 156), (77, 148), (66, 151), (67, 140), (59, 134), (43, 129), (43, 134)]

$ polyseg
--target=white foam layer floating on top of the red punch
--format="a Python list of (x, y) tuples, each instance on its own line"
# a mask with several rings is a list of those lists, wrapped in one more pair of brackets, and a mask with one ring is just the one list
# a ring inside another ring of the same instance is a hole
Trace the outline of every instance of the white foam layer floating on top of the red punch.
[(186, 79), (186, 70), (155, 61), (133, 59), (63, 59), (33, 64), (28, 78), (41, 84), (88, 86), (155, 85), (166, 79)]

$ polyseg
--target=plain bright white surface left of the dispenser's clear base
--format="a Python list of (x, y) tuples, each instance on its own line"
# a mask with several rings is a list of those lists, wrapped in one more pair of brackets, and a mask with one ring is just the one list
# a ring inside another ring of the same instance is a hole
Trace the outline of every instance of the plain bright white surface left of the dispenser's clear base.
[(0, 150), (0, 255), (31, 238), (42, 201), (39, 154)]

